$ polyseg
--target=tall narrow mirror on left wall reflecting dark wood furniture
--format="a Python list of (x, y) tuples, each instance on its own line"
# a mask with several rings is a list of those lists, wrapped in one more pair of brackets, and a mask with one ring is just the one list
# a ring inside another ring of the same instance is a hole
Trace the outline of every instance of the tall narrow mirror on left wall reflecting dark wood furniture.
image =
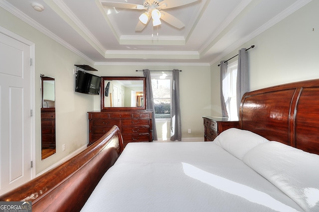
[(41, 77), (41, 159), (56, 152), (55, 148), (55, 81)]

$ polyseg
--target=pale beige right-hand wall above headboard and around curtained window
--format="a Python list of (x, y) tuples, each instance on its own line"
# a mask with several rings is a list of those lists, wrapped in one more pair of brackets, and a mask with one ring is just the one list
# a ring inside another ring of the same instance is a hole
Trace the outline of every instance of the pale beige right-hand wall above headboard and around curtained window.
[[(311, 1), (221, 60), (238, 54), (240, 48), (256, 46), (248, 50), (251, 91), (319, 78), (318, 8), (319, 1)], [(211, 90), (216, 91), (211, 93), (212, 115), (221, 114), (218, 64), (211, 66)]]

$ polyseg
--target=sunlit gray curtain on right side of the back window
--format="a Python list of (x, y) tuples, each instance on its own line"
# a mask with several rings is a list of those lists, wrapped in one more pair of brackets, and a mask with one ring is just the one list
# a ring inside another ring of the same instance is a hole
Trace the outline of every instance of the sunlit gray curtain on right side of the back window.
[(179, 71), (173, 70), (173, 80), (171, 83), (171, 103), (170, 103), (170, 140), (181, 141), (181, 122), (179, 106)]

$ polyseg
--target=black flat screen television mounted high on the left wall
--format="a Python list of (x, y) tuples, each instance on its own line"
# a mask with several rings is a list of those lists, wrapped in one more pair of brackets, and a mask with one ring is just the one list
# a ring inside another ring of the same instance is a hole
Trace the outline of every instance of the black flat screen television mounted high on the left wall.
[(78, 71), (75, 77), (75, 92), (83, 94), (99, 95), (101, 88), (101, 77)]

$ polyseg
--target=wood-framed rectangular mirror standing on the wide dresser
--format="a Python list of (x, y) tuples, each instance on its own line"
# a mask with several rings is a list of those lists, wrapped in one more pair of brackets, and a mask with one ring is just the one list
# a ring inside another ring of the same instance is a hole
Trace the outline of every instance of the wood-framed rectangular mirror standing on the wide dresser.
[(101, 110), (146, 109), (145, 77), (102, 77)]

